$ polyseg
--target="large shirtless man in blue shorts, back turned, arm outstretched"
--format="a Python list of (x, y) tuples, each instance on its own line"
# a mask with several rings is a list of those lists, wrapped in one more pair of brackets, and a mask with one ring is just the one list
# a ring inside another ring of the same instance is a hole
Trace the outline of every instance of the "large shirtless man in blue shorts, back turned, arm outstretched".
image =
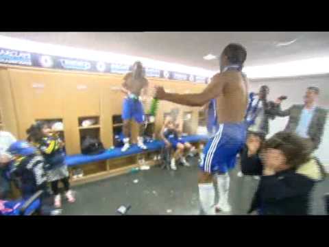
[(239, 44), (230, 44), (220, 57), (221, 73), (217, 73), (202, 93), (166, 93), (156, 87), (156, 97), (186, 106), (203, 106), (216, 99), (218, 131), (204, 148), (204, 160), (199, 167), (199, 200), (204, 213), (214, 214), (215, 189), (213, 174), (226, 173), (234, 167), (236, 154), (246, 139), (244, 123), (247, 108), (247, 80), (241, 73), (247, 51)]

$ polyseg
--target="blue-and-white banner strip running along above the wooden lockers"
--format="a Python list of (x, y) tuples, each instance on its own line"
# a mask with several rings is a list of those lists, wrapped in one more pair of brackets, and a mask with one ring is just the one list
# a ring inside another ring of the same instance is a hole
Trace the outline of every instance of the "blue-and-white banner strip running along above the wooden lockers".
[[(0, 48), (0, 64), (12, 64), (47, 69), (63, 69), (70, 71), (86, 71), (95, 73), (117, 73), (124, 75), (131, 71), (132, 64), (118, 64), (102, 61), (80, 60), (35, 54), (27, 51), (15, 51)], [(208, 78), (197, 75), (188, 75), (173, 71), (164, 71), (146, 67), (145, 75), (148, 78), (164, 78), (168, 80), (182, 80), (195, 83), (207, 83)]]

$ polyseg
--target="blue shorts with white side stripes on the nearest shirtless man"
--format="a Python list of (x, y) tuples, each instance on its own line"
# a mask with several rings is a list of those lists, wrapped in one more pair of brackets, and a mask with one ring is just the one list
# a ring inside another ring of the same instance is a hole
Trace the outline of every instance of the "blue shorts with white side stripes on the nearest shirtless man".
[(244, 122), (219, 124), (218, 131), (204, 147), (200, 169), (207, 173), (228, 172), (234, 168), (236, 154), (243, 148), (247, 130)]

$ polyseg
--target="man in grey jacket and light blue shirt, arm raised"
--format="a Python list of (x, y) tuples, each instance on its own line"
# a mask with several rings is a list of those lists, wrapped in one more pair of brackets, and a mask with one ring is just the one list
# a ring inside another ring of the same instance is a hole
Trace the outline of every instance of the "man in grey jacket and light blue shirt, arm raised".
[(304, 95), (304, 104), (295, 104), (287, 110), (281, 110), (282, 100), (277, 99), (274, 114), (280, 117), (289, 116), (289, 121), (284, 129), (288, 132), (295, 132), (304, 139), (309, 139), (313, 144), (313, 150), (319, 148), (321, 138), (324, 134), (324, 125), (328, 110), (316, 105), (319, 97), (319, 89), (309, 86)]

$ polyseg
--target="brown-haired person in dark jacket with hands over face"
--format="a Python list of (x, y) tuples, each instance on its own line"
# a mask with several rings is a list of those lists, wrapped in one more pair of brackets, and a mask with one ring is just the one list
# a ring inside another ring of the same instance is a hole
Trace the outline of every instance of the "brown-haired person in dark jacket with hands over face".
[(290, 132), (278, 132), (263, 150), (260, 139), (249, 137), (241, 152), (241, 170), (261, 178), (248, 213), (307, 215), (313, 186), (323, 178), (321, 165), (310, 154), (310, 145)]

